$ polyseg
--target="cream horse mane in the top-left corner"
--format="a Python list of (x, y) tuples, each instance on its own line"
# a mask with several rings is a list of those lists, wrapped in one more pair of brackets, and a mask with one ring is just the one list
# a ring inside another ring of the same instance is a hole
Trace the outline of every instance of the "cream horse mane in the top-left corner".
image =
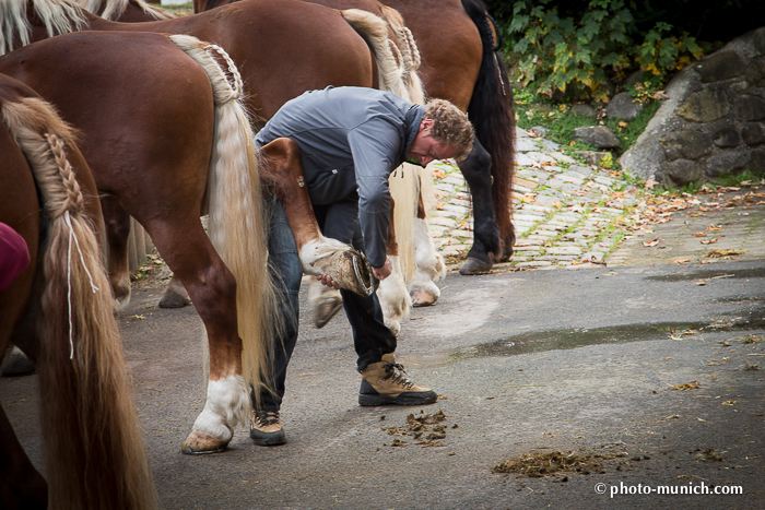
[[(34, 15), (45, 25), (48, 37), (79, 32), (87, 26), (83, 9), (73, 0), (33, 0)], [(31, 43), (32, 25), (27, 16), (27, 0), (0, 2), (0, 55), (13, 51), (19, 37), (21, 46)]]

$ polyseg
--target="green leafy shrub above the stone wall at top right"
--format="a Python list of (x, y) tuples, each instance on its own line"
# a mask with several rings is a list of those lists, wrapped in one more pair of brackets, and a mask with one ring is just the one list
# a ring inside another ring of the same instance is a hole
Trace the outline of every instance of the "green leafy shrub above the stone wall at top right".
[(560, 15), (553, 0), (518, 0), (503, 33), (514, 41), (521, 84), (553, 97), (608, 100), (609, 79), (628, 69), (666, 76), (702, 56), (687, 34), (672, 35), (672, 26), (657, 22), (637, 33), (634, 2), (590, 0), (578, 15)]

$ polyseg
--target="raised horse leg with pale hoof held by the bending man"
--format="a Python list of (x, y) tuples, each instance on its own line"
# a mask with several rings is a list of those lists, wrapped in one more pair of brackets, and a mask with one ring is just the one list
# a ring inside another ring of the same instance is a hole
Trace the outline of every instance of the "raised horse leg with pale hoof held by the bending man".
[(299, 149), (290, 139), (278, 139), (260, 150), (264, 157), (260, 179), (286, 212), (306, 274), (329, 274), (342, 288), (362, 296), (374, 290), (372, 268), (363, 253), (323, 237), (316, 222), (301, 165)]

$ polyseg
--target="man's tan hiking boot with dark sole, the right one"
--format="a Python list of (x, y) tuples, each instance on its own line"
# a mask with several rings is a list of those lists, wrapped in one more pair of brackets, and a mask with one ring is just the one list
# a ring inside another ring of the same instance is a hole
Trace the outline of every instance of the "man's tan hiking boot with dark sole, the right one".
[(404, 376), (403, 367), (392, 354), (384, 354), (382, 360), (362, 370), (362, 388), (358, 405), (423, 405), (438, 399), (435, 391), (414, 386)]

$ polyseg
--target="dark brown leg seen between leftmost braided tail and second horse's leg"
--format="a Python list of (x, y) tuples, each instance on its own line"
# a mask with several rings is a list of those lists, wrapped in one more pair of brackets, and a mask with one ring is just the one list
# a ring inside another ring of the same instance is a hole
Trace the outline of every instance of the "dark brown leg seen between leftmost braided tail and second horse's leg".
[(128, 238), (130, 237), (130, 215), (125, 212), (115, 197), (103, 197), (106, 242), (109, 248), (109, 284), (115, 298), (115, 311), (130, 303), (130, 272), (128, 268)]

